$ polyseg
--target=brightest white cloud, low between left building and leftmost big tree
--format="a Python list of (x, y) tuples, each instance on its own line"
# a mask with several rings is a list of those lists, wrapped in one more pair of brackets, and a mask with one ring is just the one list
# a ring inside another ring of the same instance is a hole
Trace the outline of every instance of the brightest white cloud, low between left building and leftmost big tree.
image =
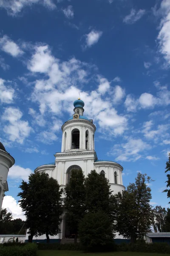
[(17, 203), (17, 200), (15, 200), (15, 198), (13, 198), (11, 195), (6, 195), (3, 198), (2, 208), (6, 208), (8, 212), (11, 212), (13, 219), (21, 218), (23, 221), (26, 220), (20, 204)]

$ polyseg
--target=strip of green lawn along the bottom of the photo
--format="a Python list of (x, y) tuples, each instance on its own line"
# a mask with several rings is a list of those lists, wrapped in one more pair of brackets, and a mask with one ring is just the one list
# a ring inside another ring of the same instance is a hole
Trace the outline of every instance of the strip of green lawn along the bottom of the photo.
[(82, 253), (79, 251), (65, 250), (38, 250), (37, 256), (165, 256), (170, 254), (161, 253), (135, 253), (135, 252), (113, 252), (113, 253)]

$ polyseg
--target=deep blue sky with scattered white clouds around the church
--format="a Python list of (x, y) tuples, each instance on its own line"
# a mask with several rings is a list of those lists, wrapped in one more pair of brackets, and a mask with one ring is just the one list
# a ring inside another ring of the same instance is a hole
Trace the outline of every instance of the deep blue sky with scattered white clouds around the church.
[(99, 159), (154, 181), (168, 207), (169, 0), (0, 0), (0, 141), (14, 157), (3, 207), (23, 218), (17, 193), (61, 151), (61, 126), (85, 102)]

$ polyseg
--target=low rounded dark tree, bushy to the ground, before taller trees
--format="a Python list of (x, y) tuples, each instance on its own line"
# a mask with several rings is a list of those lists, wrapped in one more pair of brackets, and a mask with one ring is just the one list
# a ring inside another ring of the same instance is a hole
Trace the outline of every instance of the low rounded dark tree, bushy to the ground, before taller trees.
[(88, 212), (80, 221), (79, 239), (87, 250), (113, 249), (113, 232), (109, 216), (102, 211)]

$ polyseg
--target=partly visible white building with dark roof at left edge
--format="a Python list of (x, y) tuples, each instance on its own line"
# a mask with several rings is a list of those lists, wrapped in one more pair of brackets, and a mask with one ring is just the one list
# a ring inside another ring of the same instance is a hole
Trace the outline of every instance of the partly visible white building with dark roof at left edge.
[(8, 191), (8, 171), (14, 163), (14, 158), (6, 151), (4, 145), (0, 142), (0, 211), (5, 192)]

